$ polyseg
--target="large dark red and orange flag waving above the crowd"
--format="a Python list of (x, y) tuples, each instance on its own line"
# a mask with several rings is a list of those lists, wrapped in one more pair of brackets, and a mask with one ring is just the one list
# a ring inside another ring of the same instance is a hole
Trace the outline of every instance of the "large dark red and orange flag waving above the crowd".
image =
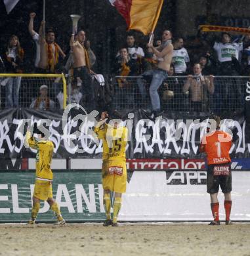
[(154, 32), (163, 0), (110, 0), (125, 18), (128, 30), (138, 30), (144, 35)]

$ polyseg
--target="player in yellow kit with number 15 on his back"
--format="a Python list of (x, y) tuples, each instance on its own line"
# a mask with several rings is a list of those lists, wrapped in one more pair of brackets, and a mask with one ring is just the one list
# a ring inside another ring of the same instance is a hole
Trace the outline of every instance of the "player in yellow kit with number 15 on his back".
[[(108, 117), (107, 112), (102, 112), (101, 120)], [(119, 118), (120, 119), (120, 118)], [(116, 119), (114, 125), (98, 123), (94, 127), (98, 139), (103, 142), (102, 153), (102, 186), (104, 189), (104, 208), (106, 221), (104, 226), (117, 226), (117, 216), (121, 209), (121, 195), (126, 192), (127, 169), (126, 169), (126, 146), (128, 131), (122, 127)], [(114, 214), (111, 218), (110, 192), (115, 192)]]

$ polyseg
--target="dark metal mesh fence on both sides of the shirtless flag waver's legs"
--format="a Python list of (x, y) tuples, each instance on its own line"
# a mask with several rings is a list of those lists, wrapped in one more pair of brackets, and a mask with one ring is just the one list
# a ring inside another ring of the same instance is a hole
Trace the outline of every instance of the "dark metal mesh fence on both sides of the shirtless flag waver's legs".
[[(213, 80), (213, 85), (211, 83)], [(158, 89), (161, 110), (224, 112), (243, 110), (249, 77), (167, 77)], [(140, 85), (146, 89), (142, 93)], [(150, 109), (150, 77), (115, 77), (113, 108)]]

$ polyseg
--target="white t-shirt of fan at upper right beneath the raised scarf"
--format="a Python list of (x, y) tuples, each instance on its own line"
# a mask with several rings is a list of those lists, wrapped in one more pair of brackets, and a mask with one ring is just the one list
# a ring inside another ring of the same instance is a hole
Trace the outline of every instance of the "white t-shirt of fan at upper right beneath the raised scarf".
[(213, 46), (213, 49), (217, 51), (218, 59), (220, 62), (232, 61), (232, 55), (234, 54), (239, 60), (239, 53), (243, 50), (243, 43), (217, 43)]

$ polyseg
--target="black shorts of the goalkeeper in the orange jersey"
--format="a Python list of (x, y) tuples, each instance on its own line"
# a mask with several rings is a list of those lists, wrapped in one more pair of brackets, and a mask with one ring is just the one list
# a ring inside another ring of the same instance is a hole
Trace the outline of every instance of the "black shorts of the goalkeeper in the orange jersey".
[(231, 163), (208, 165), (207, 193), (218, 193), (219, 186), (221, 188), (222, 193), (228, 193), (232, 191)]

